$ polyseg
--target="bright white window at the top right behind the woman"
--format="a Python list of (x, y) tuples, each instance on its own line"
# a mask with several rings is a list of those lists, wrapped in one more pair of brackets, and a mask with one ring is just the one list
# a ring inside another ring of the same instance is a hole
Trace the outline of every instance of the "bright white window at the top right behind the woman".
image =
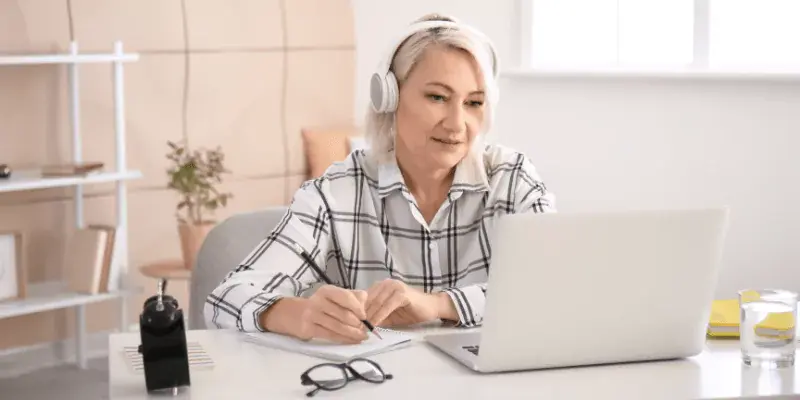
[(523, 0), (544, 68), (800, 69), (800, 0)]

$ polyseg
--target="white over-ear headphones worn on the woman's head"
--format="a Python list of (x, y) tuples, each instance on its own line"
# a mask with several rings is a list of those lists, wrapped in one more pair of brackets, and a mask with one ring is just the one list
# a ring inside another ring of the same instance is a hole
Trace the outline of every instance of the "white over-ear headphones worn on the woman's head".
[(375, 73), (372, 74), (372, 78), (370, 79), (369, 94), (373, 110), (379, 113), (388, 113), (397, 109), (397, 102), (400, 98), (400, 90), (397, 85), (397, 77), (395, 77), (394, 73), (391, 71), (394, 55), (400, 45), (402, 45), (406, 39), (411, 37), (411, 35), (434, 28), (451, 28), (461, 30), (472, 35), (479, 43), (483, 43), (485, 45), (486, 51), (489, 52), (489, 62), (491, 63), (491, 65), (488, 67), (492, 69), (488, 72), (488, 74), (491, 76), (491, 79), (487, 79), (491, 81), (486, 82), (487, 85), (491, 85), (492, 87), (487, 88), (487, 92), (490, 96), (490, 102), (496, 102), (497, 87), (495, 80), (497, 79), (498, 74), (497, 54), (495, 53), (494, 46), (492, 45), (491, 41), (489, 41), (484, 34), (467, 25), (450, 21), (422, 21), (416, 22), (409, 26), (409, 29), (406, 30), (406, 32), (392, 42), (392, 46), (389, 48), (389, 54), (382, 60)]

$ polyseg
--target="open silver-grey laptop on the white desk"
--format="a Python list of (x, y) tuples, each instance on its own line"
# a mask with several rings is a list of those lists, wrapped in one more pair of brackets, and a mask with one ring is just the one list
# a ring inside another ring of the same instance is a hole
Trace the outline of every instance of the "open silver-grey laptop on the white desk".
[(501, 217), (481, 328), (425, 340), (479, 372), (697, 355), (727, 224), (727, 208)]

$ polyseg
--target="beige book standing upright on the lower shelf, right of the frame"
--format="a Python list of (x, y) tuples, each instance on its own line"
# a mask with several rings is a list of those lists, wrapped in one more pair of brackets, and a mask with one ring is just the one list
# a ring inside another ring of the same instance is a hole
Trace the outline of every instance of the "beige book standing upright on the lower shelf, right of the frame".
[(64, 255), (64, 273), (70, 291), (83, 294), (109, 291), (116, 238), (116, 227), (109, 225), (89, 225), (70, 233)]

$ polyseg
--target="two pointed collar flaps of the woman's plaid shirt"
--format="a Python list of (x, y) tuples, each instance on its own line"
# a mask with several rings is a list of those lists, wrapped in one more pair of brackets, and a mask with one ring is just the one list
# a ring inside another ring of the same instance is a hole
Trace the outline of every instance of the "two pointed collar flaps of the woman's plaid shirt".
[[(378, 195), (384, 198), (392, 192), (408, 191), (403, 174), (397, 165), (397, 158), (391, 152), (386, 161), (378, 166)], [(489, 190), (489, 179), (482, 158), (470, 153), (456, 166), (453, 185), (450, 193), (454, 192), (484, 192)]]

